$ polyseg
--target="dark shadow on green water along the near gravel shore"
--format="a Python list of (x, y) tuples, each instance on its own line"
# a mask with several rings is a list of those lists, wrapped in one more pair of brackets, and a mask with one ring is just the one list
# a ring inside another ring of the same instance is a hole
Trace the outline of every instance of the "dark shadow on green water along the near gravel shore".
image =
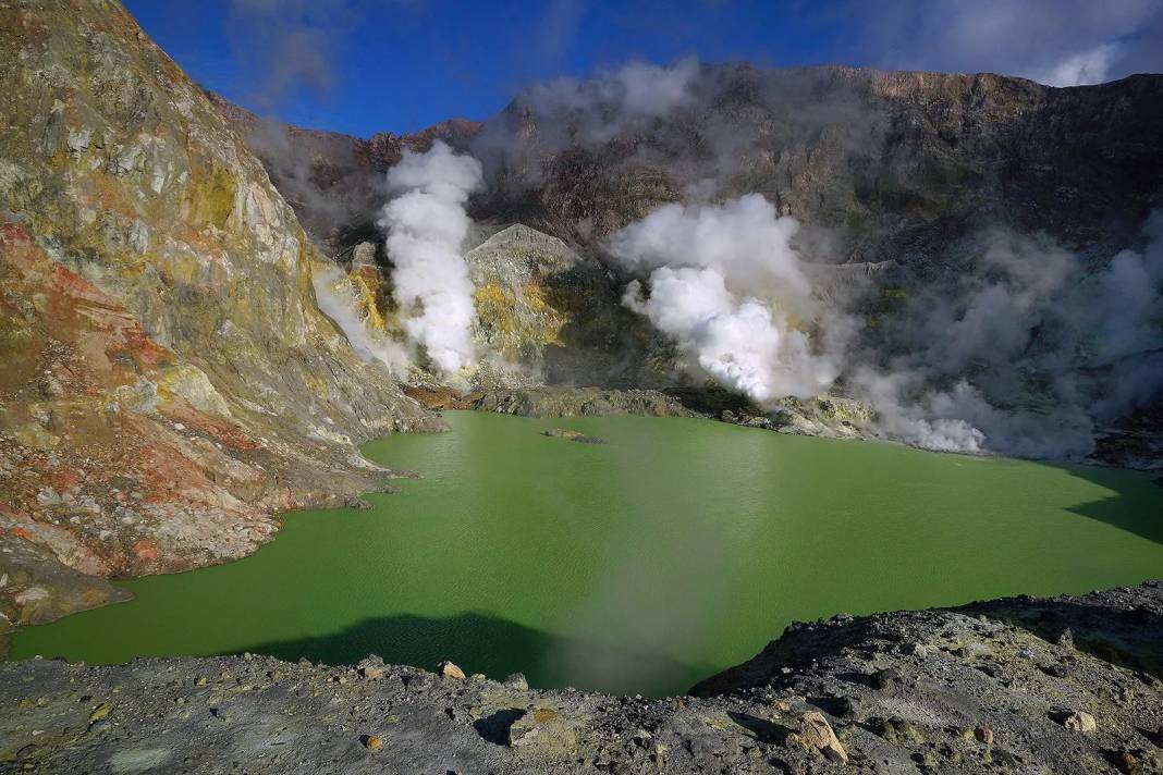
[(494, 680), (523, 673), (537, 688), (572, 686), (654, 696), (683, 694), (693, 681), (712, 672), (683, 665), (666, 654), (565, 638), (470, 612), (441, 618), (400, 615), (365, 619), (323, 636), (263, 643), (238, 651), (324, 665), (354, 665), (374, 654), (391, 665), (428, 670), (447, 659), (465, 673), (484, 673)]

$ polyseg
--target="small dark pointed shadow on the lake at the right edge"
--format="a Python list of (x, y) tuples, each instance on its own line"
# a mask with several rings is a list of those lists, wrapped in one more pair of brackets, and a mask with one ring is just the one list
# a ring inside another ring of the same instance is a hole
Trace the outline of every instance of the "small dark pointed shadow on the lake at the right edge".
[[(1163, 544), (1163, 485), (1120, 468), (1099, 466), (1055, 466), (1084, 481), (1113, 493), (1110, 497), (1090, 501), (1066, 509), (1071, 514), (1097, 519), (1113, 528)], [(1154, 502), (1158, 508), (1144, 508)], [(1163, 568), (1160, 568), (1163, 574)]]

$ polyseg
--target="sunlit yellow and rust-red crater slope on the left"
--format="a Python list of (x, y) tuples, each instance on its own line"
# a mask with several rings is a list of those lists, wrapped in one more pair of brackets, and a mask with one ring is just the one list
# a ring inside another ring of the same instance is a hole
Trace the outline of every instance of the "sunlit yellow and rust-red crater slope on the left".
[[(319, 311), (294, 213), (201, 89), (100, 0), (0, 3), (0, 541), (180, 571), (380, 487), (355, 443), (438, 421)], [(0, 613), (63, 612), (31, 587), (8, 574)]]

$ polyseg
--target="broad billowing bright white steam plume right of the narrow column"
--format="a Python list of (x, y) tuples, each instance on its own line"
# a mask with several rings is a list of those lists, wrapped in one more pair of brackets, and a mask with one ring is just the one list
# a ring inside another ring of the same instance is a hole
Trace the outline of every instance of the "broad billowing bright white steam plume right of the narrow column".
[(650, 271), (623, 302), (675, 337), (688, 363), (759, 402), (827, 389), (840, 361), (811, 329), (822, 309), (790, 244), (799, 223), (758, 194), (721, 206), (666, 204), (611, 237)]

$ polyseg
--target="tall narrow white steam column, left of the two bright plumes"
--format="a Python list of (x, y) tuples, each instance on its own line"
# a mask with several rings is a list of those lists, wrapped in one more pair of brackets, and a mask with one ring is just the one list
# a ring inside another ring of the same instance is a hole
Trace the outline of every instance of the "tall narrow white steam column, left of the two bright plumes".
[(387, 235), (404, 329), (444, 374), (476, 360), (473, 286), (461, 247), (472, 224), (465, 203), (483, 184), (480, 163), (441, 141), (424, 153), (405, 151), (387, 173), (397, 196), (378, 223)]

